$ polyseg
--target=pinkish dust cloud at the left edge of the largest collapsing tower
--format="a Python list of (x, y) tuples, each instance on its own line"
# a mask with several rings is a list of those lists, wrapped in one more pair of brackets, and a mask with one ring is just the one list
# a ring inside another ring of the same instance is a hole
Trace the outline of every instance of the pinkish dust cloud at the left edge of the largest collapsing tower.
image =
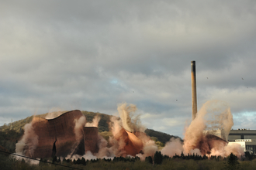
[(33, 123), (35, 121), (36, 117), (33, 118), (31, 123), (25, 125), (22, 139), (16, 143), (16, 153), (18, 155), (30, 155), (32, 157), (38, 145), (38, 136), (33, 129)]

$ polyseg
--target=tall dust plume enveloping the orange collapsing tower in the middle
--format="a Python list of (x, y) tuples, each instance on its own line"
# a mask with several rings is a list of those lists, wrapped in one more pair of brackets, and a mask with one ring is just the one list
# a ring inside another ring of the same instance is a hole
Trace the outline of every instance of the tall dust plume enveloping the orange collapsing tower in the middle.
[(113, 153), (116, 156), (139, 156), (146, 158), (154, 155), (157, 145), (144, 133), (145, 127), (140, 122), (140, 115), (136, 115), (134, 104), (119, 104), (117, 108), (120, 119), (112, 117), (112, 134), (109, 138)]

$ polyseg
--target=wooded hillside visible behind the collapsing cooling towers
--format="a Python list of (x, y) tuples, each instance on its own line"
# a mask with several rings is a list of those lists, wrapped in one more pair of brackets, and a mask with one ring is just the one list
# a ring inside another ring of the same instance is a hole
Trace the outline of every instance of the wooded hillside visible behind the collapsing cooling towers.
[[(99, 121), (99, 133), (108, 140), (109, 136), (112, 133), (109, 131), (109, 122), (111, 115), (95, 113), (90, 111), (81, 111), (82, 114), (85, 115), (87, 122), (92, 122), (95, 115), (101, 117)], [(45, 117), (47, 114), (36, 115), (37, 117)], [(5, 124), (0, 127), (0, 146), (6, 148), (9, 151), (15, 151), (16, 142), (19, 141), (19, 138), (22, 137), (24, 133), (24, 126), (28, 124), (33, 119), (33, 116), (26, 117), (25, 119), (12, 122), (12, 124)], [(146, 129), (145, 133), (150, 136), (154, 141), (156, 141), (157, 145), (164, 146), (170, 138), (179, 138), (178, 136), (173, 136), (170, 134), (165, 134), (159, 131), (154, 131), (152, 129)]]

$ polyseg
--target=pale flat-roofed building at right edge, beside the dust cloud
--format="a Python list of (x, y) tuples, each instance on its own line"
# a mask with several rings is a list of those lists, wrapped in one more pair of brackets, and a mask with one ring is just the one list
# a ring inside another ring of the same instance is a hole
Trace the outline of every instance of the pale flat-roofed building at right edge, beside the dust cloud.
[(244, 151), (256, 154), (256, 130), (232, 129), (228, 135), (228, 141), (230, 144), (239, 143), (244, 147)]

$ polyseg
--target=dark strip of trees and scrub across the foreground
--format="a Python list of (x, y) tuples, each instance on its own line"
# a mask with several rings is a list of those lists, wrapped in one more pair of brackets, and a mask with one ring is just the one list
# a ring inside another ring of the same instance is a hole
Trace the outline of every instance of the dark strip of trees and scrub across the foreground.
[[(35, 161), (32, 161), (33, 163)], [(247, 152), (241, 160), (231, 153), (227, 158), (206, 155), (162, 155), (156, 151), (154, 156), (149, 156), (141, 161), (139, 157), (114, 157), (96, 158), (49, 158), (40, 159), (36, 165), (11, 155), (0, 153), (0, 169), (254, 169), (256, 167), (255, 155)], [(52, 163), (52, 164), (49, 164)], [(62, 165), (62, 166), (60, 166)], [(65, 167), (65, 168), (64, 168)]]

